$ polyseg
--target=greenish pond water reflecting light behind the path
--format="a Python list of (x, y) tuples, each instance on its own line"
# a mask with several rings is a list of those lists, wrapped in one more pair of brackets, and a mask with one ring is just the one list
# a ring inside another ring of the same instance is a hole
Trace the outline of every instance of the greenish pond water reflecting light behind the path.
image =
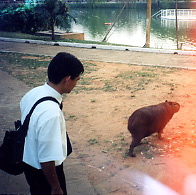
[[(154, 14), (157, 10), (152, 10)], [(120, 9), (71, 9), (76, 18), (70, 31), (84, 33), (85, 40), (102, 41)], [(150, 47), (176, 49), (175, 20), (152, 19)], [(196, 21), (179, 21), (179, 45), (182, 49), (196, 50)], [(107, 42), (143, 47), (146, 40), (146, 10), (125, 9)], [(182, 44), (181, 44), (182, 43)]]

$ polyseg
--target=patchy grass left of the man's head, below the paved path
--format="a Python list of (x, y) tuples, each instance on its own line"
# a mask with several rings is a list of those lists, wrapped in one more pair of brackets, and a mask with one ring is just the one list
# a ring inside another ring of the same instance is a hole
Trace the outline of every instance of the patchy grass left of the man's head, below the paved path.
[(43, 84), (50, 57), (0, 52), (0, 69), (30, 86)]

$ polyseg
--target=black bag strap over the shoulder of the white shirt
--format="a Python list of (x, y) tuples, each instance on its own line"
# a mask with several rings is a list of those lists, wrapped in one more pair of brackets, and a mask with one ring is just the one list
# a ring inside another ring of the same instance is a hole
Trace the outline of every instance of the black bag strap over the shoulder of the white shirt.
[[(43, 98), (39, 99), (37, 102), (35, 102), (35, 104), (34, 104), (33, 107), (31, 108), (29, 114), (26, 116), (26, 118), (25, 118), (25, 120), (24, 120), (24, 122), (23, 122), (23, 125), (22, 125), (23, 128), (21, 128), (21, 130), (23, 131), (23, 132), (21, 132), (21, 133), (22, 133), (25, 137), (26, 137), (26, 135), (27, 135), (27, 130), (28, 130), (28, 127), (29, 127), (29, 121), (30, 121), (31, 115), (32, 115), (32, 113), (33, 113), (35, 107), (36, 107), (38, 104), (40, 104), (41, 102), (47, 101), (47, 100), (54, 101), (54, 102), (56, 102), (57, 104), (59, 104), (59, 102), (58, 102), (55, 98), (53, 98), (53, 97), (51, 97), (51, 96), (43, 97)], [(59, 104), (59, 106), (60, 106), (60, 104)]]

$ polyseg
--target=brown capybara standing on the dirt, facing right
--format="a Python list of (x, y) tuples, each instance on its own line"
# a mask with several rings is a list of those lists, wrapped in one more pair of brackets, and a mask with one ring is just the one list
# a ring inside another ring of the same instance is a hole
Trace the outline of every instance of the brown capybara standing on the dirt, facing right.
[(129, 155), (136, 156), (133, 150), (144, 137), (157, 132), (159, 139), (161, 139), (164, 127), (179, 109), (180, 104), (177, 102), (165, 101), (134, 111), (128, 120), (128, 130), (132, 135)]

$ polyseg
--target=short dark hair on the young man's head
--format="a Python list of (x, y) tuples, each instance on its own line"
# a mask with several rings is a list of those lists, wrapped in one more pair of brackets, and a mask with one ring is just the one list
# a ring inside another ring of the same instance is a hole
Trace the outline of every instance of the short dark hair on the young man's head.
[(84, 72), (84, 67), (75, 56), (60, 52), (50, 62), (48, 66), (48, 79), (54, 84), (59, 84), (66, 76), (71, 76), (74, 80)]

